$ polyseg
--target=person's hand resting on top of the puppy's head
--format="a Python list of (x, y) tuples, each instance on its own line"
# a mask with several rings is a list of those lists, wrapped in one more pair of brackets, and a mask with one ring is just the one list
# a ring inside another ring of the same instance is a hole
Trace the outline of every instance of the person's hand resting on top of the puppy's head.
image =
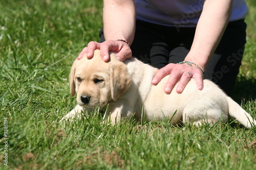
[(123, 61), (127, 58), (132, 57), (132, 51), (129, 45), (123, 41), (106, 40), (104, 42), (91, 41), (88, 43), (87, 47), (84, 47), (81, 53), (78, 55), (78, 60), (80, 60), (84, 54), (87, 54), (87, 58), (91, 59), (94, 55), (94, 51), (100, 50), (101, 56), (105, 62), (109, 61), (109, 52), (115, 52), (116, 58)]

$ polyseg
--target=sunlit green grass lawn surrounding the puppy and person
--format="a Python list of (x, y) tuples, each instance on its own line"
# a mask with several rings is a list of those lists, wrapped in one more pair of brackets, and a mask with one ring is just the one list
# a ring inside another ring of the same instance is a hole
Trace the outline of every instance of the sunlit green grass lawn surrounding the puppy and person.
[[(255, 118), (256, 4), (247, 2), (248, 43), (232, 97)], [(0, 11), (0, 169), (7, 169), (5, 153), (8, 169), (256, 168), (256, 129), (237, 122), (112, 126), (95, 111), (59, 124), (76, 105), (69, 70), (82, 48), (98, 40), (102, 2), (10, 0)]]

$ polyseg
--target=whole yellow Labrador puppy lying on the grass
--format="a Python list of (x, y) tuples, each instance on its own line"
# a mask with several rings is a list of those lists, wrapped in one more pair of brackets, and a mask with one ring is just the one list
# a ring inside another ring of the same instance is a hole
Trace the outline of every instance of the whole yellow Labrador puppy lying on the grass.
[[(157, 85), (151, 81), (157, 68), (132, 58), (120, 62), (111, 54), (109, 62), (104, 62), (100, 51), (96, 50), (90, 60), (83, 56), (75, 60), (70, 72), (70, 93), (77, 93), (78, 105), (62, 120), (80, 116), (81, 112), (91, 112), (96, 106), (104, 107), (112, 123), (121, 117), (137, 119), (172, 119), (173, 124), (190, 122), (225, 122), (230, 115), (245, 127), (255, 125), (255, 120), (236, 102), (229, 98), (217, 85), (204, 80), (203, 90), (198, 90), (194, 79), (190, 79), (182, 93), (172, 90), (164, 92), (168, 77)], [(175, 89), (175, 88), (174, 88)], [(174, 114), (175, 113), (175, 114)], [(143, 115), (142, 115), (143, 114)]]

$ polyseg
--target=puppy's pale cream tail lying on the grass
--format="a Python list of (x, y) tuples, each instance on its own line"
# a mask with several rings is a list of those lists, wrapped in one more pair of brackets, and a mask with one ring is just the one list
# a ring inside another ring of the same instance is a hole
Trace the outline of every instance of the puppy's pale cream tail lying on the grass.
[(239, 104), (234, 102), (229, 96), (227, 96), (229, 115), (236, 118), (246, 128), (250, 128), (252, 125), (256, 126), (256, 121), (253, 120), (251, 115), (242, 109)]

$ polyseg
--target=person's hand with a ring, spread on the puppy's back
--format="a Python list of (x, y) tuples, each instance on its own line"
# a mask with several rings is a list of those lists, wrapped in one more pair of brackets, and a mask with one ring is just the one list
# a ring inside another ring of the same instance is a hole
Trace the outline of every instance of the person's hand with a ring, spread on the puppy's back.
[(173, 64), (170, 63), (158, 70), (152, 80), (152, 84), (158, 84), (165, 76), (169, 75), (169, 79), (164, 87), (165, 93), (170, 93), (177, 81), (180, 79), (176, 88), (176, 92), (181, 93), (185, 88), (190, 78), (194, 78), (199, 90), (203, 89), (203, 74), (202, 70), (196, 65), (189, 64)]

